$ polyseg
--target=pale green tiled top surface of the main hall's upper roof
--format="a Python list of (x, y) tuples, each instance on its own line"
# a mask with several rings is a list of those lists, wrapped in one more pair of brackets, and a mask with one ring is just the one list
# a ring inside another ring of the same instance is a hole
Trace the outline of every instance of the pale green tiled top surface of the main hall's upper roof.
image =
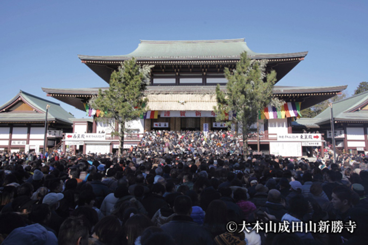
[(124, 60), (135, 57), (141, 59), (239, 59), (247, 52), (251, 58), (289, 58), (305, 57), (308, 52), (290, 54), (256, 53), (250, 50), (244, 38), (225, 40), (196, 41), (147, 41), (142, 40), (138, 47), (128, 55), (85, 56), (81, 60)]

